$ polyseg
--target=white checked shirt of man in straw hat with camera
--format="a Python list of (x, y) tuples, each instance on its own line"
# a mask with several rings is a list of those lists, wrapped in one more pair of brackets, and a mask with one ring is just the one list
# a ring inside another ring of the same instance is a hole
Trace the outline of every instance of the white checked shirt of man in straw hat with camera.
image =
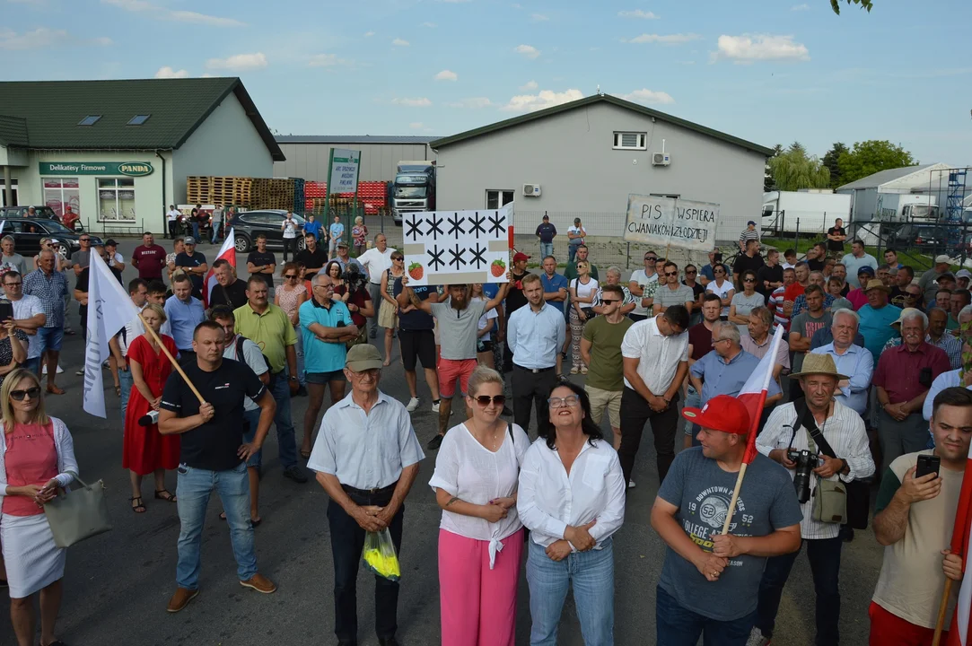
[[(810, 443), (807, 441), (807, 430), (801, 425), (793, 433), (793, 426), (797, 424), (796, 407), (790, 404), (777, 406), (769, 419), (763, 432), (756, 436), (756, 450), (764, 456), (769, 457), (770, 452), (775, 449), (786, 449), (790, 445), (790, 436), (793, 437), (792, 447), (794, 449), (809, 449)], [(853, 410), (839, 401), (834, 401), (834, 412), (828, 417), (820, 428), (827, 444), (834, 450), (837, 457), (846, 459), (849, 472), (845, 476), (840, 476), (843, 482), (860, 480), (874, 473), (874, 459), (871, 458), (871, 449), (867, 440), (867, 430), (864, 428), (864, 421), (860, 419)], [(816, 453), (820, 448), (816, 446)], [(795, 475), (793, 469), (786, 469), (790, 478)], [(811, 488), (816, 487), (817, 476), (814, 475), (811, 481)], [(837, 482), (838, 476), (833, 475), (827, 478), (832, 482)], [(803, 520), (800, 522), (800, 535), (804, 538), (834, 538), (841, 531), (839, 523), (821, 523), (814, 520), (814, 496), (811, 495), (807, 502), (800, 505), (803, 512)]]

